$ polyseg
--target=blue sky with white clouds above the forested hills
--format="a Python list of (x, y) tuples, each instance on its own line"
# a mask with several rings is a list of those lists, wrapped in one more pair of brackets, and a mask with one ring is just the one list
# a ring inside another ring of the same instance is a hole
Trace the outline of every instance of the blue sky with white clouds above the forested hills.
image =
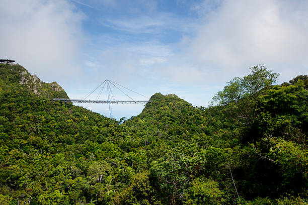
[[(57, 81), (70, 98), (110, 79), (145, 96), (175, 93), (207, 106), (251, 66), (263, 63), (279, 82), (308, 73), (304, 0), (0, 0), (0, 26), (0, 58)], [(109, 116), (108, 105), (84, 106)], [(113, 105), (113, 117), (142, 108)]]

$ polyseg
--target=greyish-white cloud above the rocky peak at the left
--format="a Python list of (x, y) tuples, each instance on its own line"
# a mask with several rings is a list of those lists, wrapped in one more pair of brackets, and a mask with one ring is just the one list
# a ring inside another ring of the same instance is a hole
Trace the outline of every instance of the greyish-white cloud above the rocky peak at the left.
[(0, 56), (15, 59), (42, 80), (79, 73), (83, 14), (66, 1), (0, 3)]

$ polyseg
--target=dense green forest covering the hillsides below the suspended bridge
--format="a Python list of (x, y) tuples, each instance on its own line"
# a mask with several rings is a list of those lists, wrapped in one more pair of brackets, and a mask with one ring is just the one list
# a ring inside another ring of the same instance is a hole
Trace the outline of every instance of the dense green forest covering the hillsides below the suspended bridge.
[(307, 204), (308, 91), (262, 65), (196, 108), (156, 93), (123, 123), (0, 65), (0, 204)]

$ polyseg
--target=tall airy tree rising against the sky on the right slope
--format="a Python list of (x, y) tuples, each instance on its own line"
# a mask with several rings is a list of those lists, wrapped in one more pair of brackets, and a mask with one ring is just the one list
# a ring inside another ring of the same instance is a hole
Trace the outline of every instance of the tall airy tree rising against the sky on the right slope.
[(213, 102), (225, 107), (231, 117), (245, 125), (253, 124), (258, 97), (266, 93), (279, 76), (263, 64), (249, 69), (249, 75), (233, 78), (213, 97)]

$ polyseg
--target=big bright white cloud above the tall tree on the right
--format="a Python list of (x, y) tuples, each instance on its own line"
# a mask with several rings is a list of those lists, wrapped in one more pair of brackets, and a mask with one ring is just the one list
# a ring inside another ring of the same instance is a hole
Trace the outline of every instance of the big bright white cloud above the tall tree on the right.
[(190, 44), (195, 62), (235, 76), (260, 63), (283, 80), (307, 73), (308, 2), (226, 0), (205, 17)]

